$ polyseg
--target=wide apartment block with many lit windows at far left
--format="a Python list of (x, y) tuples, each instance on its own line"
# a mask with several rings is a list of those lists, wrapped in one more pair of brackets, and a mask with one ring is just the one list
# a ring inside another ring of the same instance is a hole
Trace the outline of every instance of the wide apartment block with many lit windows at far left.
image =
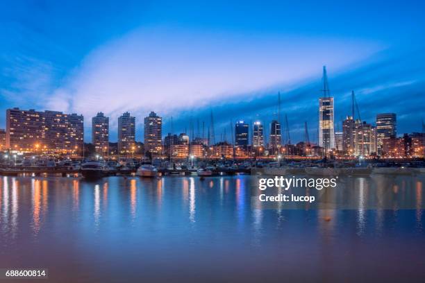
[(6, 110), (6, 147), (24, 152), (81, 153), (83, 116), (58, 111)]

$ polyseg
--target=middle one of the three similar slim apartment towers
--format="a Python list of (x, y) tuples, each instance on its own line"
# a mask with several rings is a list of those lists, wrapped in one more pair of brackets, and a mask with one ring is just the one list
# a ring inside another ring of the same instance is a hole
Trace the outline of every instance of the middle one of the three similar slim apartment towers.
[(118, 118), (118, 152), (135, 151), (135, 117), (125, 112)]

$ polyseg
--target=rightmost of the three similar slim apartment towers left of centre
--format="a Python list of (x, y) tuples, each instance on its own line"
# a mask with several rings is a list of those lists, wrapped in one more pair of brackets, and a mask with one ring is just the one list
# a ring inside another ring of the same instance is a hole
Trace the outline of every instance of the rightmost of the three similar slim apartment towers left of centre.
[(159, 155), (163, 151), (163, 118), (151, 112), (144, 118), (144, 152)]

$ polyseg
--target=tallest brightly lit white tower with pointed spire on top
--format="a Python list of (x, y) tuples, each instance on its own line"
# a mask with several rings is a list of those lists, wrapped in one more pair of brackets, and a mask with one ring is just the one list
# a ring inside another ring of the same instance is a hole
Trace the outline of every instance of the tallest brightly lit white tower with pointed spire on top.
[(325, 151), (335, 148), (333, 97), (329, 96), (326, 66), (323, 67), (323, 96), (319, 98), (319, 146)]

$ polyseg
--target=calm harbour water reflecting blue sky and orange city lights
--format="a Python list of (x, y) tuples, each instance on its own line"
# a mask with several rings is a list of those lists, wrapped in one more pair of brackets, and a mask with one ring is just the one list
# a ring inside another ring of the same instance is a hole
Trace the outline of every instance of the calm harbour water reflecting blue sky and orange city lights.
[[(349, 210), (253, 209), (256, 180), (0, 177), (0, 268), (49, 268), (51, 282), (423, 280), (424, 177), (350, 180)], [(363, 209), (377, 193), (417, 207)]]

